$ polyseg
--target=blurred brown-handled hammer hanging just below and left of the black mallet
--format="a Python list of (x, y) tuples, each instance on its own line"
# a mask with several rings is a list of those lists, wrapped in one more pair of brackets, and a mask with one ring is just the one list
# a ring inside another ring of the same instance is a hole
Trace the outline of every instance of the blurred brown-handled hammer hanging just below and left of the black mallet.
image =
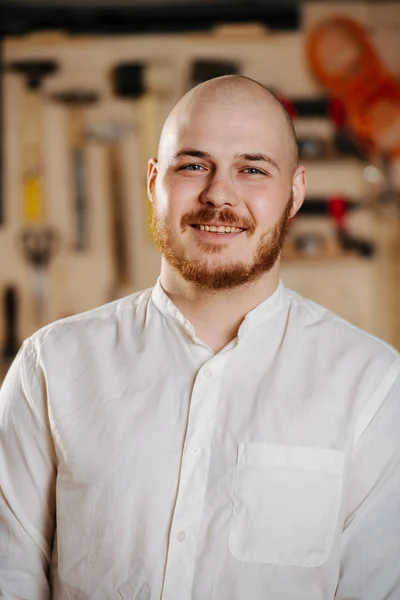
[(105, 144), (108, 150), (111, 239), (113, 247), (114, 281), (109, 300), (115, 300), (132, 292), (132, 269), (130, 268), (131, 235), (127, 229), (126, 205), (123, 194), (123, 174), (121, 165), (121, 140), (130, 134), (129, 124), (101, 123), (92, 125), (88, 137)]

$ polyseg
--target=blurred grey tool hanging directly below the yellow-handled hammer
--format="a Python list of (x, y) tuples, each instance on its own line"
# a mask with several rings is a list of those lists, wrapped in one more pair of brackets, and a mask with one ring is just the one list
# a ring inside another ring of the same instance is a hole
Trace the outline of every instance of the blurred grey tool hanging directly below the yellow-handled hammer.
[(60, 239), (52, 227), (27, 228), (19, 235), (24, 258), (32, 266), (35, 288), (35, 323), (47, 322), (45, 272), (60, 247)]

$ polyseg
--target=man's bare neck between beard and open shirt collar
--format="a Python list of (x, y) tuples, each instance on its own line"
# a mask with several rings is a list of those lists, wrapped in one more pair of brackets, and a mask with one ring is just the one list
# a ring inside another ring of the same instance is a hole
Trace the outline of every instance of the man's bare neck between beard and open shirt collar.
[(279, 261), (256, 281), (228, 290), (205, 290), (183, 279), (163, 260), (161, 285), (193, 325), (196, 336), (219, 352), (237, 336), (247, 315), (269, 298), (279, 283)]

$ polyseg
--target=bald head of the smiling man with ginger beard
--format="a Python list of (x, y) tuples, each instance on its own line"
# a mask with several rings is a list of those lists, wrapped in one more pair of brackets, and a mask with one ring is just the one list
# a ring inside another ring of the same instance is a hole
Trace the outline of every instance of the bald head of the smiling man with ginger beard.
[(152, 227), (164, 261), (210, 290), (276, 269), (305, 194), (297, 160), (290, 117), (264, 86), (228, 75), (193, 88), (172, 109), (158, 161), (149, 162)]

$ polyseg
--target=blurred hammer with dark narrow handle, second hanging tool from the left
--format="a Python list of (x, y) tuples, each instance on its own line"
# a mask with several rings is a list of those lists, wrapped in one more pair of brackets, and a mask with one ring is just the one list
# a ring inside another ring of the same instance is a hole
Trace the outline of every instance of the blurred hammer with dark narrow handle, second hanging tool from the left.
[(97, 92), (92, 90), (71, 89), (51, 95), (57, 102), (65, 104), (69, 109), (69, 135), (72, 156), (72, 173), (75, 193), (75, 241), (74, 248), (78, 252), (88, 247), (88, 202), (85, 178), (85, 118), (84, 111), (99, 100)]

